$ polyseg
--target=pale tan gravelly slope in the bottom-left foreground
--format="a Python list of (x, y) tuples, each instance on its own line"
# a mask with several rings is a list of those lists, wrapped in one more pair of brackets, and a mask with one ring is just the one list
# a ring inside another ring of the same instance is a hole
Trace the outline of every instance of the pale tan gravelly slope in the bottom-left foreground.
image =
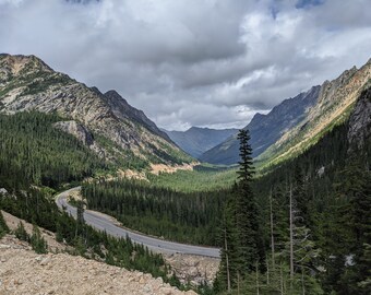
[(67, 253), (37, 255), (13, 236), (0, 240), (0, 294), (195, 294), (161, 279)]

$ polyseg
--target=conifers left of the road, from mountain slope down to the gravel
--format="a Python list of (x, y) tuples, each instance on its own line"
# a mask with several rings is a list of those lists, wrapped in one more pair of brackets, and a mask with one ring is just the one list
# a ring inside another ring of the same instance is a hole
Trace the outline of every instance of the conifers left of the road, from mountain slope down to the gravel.
[[(160, 255), (132, 244), (129, 238), (109, 237), (57, 208), (55, 189), (107, 168), (75, 138), (52, 127), (60, 120), (57, 115), (34, 111), (0, 115), (0, 188), (10, 192), (0, 193), (0, 209), (35, 225), (31, 237), (23, 224), (15, 235), (31, 243), (36, 251), (45, 252), (47, 245), (38, 226), (44, 227), (56, 233), (59, 241), (72, 246), (74, 255), (148, 272), (180, 286), (176, 278), (168, 276), (169, 267)], [(0, 236), (8, 231), (0, 214)]]

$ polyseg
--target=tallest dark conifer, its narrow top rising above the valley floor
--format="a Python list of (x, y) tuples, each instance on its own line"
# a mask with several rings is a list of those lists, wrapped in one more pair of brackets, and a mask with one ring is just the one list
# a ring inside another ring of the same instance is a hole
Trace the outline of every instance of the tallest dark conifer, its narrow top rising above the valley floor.
[(238, 182), (229, 196), (223, 214), (220, 241), (222, 262), (215, 282), (218, 291), (239, 287), (240, 280), (247, 280), (252, 271), (259, 272), (264, 261), (259, 212), (251, 184), (254, 168), (250, 135), (247, 130), (238, 133), (240, 157)]

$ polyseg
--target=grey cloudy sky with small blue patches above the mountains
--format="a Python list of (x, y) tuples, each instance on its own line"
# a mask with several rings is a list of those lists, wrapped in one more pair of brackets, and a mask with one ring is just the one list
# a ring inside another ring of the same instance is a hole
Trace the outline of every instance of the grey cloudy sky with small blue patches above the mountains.
[(0, 51), (115, 88), (159, 127), (244, 127), (371, 57), (370, 0), (0, 0)]

